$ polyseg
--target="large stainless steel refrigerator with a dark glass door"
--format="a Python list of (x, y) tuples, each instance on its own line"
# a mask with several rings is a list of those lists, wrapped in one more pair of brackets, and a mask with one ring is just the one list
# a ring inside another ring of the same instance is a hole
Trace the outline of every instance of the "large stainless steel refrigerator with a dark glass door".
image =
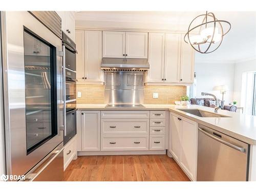
[(1, 12), (1, 36), (6, 174), (61, 181), (66, 115), (61, 19), (54, 11)]

